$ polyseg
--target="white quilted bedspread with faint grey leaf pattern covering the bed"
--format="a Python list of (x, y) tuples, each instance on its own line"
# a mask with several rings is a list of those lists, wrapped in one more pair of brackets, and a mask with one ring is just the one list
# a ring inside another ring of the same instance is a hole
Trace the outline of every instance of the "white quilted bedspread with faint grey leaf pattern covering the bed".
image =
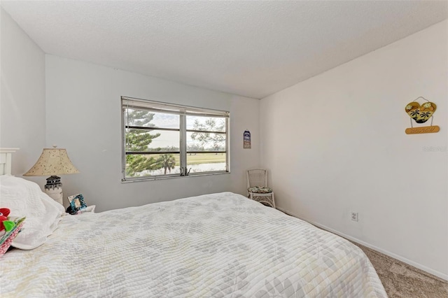
[(362, 250), (223, 192), (67, 215), (0, 259), (0, 297), (387, 297)]

